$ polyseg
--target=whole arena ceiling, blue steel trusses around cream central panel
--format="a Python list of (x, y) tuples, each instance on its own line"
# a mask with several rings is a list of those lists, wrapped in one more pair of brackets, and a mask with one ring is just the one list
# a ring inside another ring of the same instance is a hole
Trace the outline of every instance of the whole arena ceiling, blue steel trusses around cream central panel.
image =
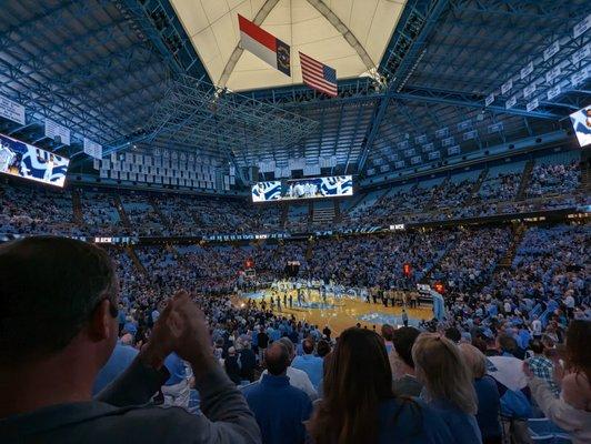
[[(323, 0), (322, 4), (317, 0), (6, 0), (0, 8), (0, 94), (27, 107), (27, 123), (0, 119), (0, 131), (86, 159), (79, 155), (80, 144), (63, 147), (43, 137), (43, 121), (50, 118), (73, 130), (77, 140), (92, 138), (107, 151), (134, 143), (149, 150), (158, 144), (220, 162), (231, 159), (238, 167), (329, 157), (337, 160), (333, 172), (371, 176), (445, 162), (449, 154), (438, 130), (448, 128), (460, 154), (484, 155), (490, 147), (567, 128), (568, 114), (591, 101), (591, 31), (573, 34), (585, 18), (591, 22), (585, 0), (408, 0), (404, 4)], [(328, 99), (302, 85), (299, 72), (293, 80), (282, 79), (248, 53), (238, 54), (232, 67), (239, 12), (256, 21), (259, 17), (264, 29), (296, 50), (305, 48), (310, 56), (333, 63), (339, 97)], [(343, 27), (334, 26), (334, 18)], [(544, 59), (554, 42), (559, 51)], [(530, 62), (533, 70), (521, 75)], [(365, 75), (369, 67), (375, 67), (377, 77)], [(548, 81), (548, 72), (557, 67), (557, 75)], [(579, 75), (577, 84), (573, 75)], [(179, 79), (197, 79), (187, 95), (203, 95), (206, 90), (207, 100), (193, 103), (198, 109), (209, 101), (209, 113), (191, 113), (182, 95), (171, 99)], [(501, 87), (509, 81), (512, 89), (503, 93)], [(213, 84), (240, 92), (217, 90)], [(524, 89), (532, 84), (535, 90), (525, 97)], [(557, 87), (558, 95), (548, 99), (549, 90)], [(490, 94), (494, 100), (487, 104)], [(533, 100), (538, 105), (531, 108)], [(190, 119), (172, 122), (166, 138), (148, 138), (152, 128), (147, 122), (170, 123), (156, 110), (174, 109), (176, 103), (183, 104), (183, 115)], [(259, 120), (264, 113), (269, 121), (278, 113), (297, 114), (304, 122), (299, 125), (304, 135), (289, 143), (249, 139), (216, 115), (220, 103), (232, 104), (241, 119), (248, 114), (243, 107), (251, 105), (259, 110)], [(208, 132), (199, 133), (204, 127)], [(477, 131), (475, 137), (467, 139), (469, 131)], [(213, 140), (216, 132), (228, 143)], [(405, 152), (405, 141), (415, 154)], [(430, 143), (433, 147), (425, 149)], [(431, 151), (440, 158), (431, 160)], [(412, 158), (419, 163), (411, 163)], [(403, 168), (397, 163), (401, 161)]]

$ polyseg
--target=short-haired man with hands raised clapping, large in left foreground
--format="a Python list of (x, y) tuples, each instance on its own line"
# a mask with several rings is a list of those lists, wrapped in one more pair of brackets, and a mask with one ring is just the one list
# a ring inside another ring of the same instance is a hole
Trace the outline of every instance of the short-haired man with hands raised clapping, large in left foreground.
[[(0, 245), (0, 275), (2, 443), (259, 442), (257, 422), (213, 360), (203, 313), (186, 292), (169, 301), (131, 366), (92, 400), (118, 332), (108, 254), (71, 239), (31, 236)], [(168, 380), (171, 352), (191, 364), (203, 415), (144, 405)]]

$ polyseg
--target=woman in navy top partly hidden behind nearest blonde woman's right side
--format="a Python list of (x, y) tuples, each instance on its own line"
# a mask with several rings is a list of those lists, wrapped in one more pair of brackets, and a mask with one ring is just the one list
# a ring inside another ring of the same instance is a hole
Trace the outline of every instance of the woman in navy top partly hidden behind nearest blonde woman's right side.
[(471, 344), (460, 344), (459, 347), (472, 374), (477, 391), (477, 422), (482, 434), (482, 442), (500, 444), (502, 442), (501, 400), (497, 382), (492, 376), (487, 375), (487, 356)]

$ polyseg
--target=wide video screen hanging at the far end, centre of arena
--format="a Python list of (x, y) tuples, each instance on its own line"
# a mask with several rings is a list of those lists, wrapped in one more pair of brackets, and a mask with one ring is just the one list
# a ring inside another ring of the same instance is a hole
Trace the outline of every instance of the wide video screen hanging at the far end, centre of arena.
[(253, 202), (320, 199), (353, 195), (353, 176), (296, 179), (284, 182), (258, 182), (252, 186)]

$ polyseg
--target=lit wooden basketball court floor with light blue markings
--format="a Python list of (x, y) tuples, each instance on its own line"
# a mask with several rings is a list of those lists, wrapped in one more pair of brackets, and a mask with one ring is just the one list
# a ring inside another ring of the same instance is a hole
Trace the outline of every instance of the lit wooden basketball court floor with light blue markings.
[[(270, 295), (274, 294), (271, 291), (266, 292), (266, 302), (267, 309), (269, 309)], [(273, 313), (277, 315), (289, 316), (293, 314), (298, 321), (308, 322), (311, 324), (317, 324), (320, 330), (325, 325), (333, 332), (333, 334), (340, 334), (343, 330), (354, 326), (358, 322), (361, 326), (367, 326), (372, 329), (375, 325), (375, 329), (379, 331), (382, 324), (388, 323), (391, 325), (402, 325), (402, 306), (391, 306), (390, 304), (385, 307), (381, 302), (374, 304), (373, 302), (367, 303), (364, 300), (353, 299), (343, 296), (340, 299), (333, 299), (331, 296), (327, 297), (327, 305), (323, 306), (322, 301), (318, 292), (312, 292), (309, 300), (305, 301), (304, 305), (311, 306), (298, 306), (296, 293), (292, 293), (293, 305), (290, 309), (289, 302), (288, 306), (283, 305), (283, 296), (280, 294), (281, 299), (281, 311), (278, 310), (277, 305), (273, 306)], [(258, 306), (260, 307), (260, 299), (257, 300)], [(236, 300), (236, 303), (243, 303), (244, 300)], [(404, 310), (409, 315), (409, 324), (417, 324), (422, 320), (430, 320), (433, 317), (433, 310), (431, 304), (422, 303), (417, 309), (410, 309), (405, 306)]]

